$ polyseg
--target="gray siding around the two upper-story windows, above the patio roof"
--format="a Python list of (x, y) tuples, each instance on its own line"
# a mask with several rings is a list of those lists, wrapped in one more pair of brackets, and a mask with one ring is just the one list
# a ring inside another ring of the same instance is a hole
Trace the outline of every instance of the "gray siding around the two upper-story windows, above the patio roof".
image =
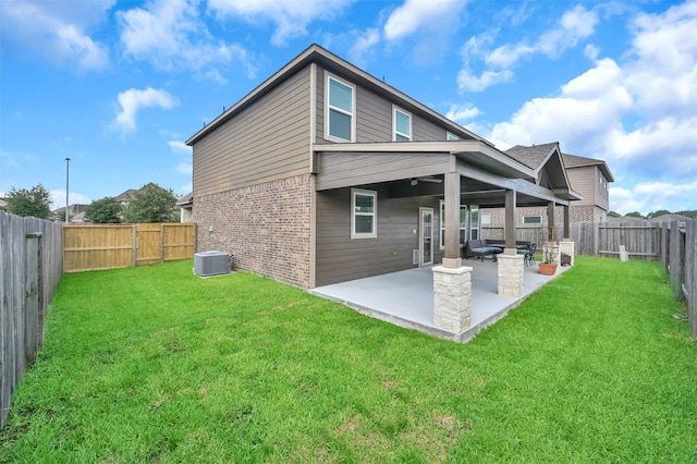
[[(392, 142), (392, 101), (372, 93), (358, 83), (337, 77), (356, 86), (356, 142)], [(325, 84), (326, 70), (317, 66), (317, 143), (325, 139)], [(414, 142), (445, 141), (447, 129), (435, 124), (416, 113), (412, 108), (398, 105), (412, 113), (412, 139)], [(452, 132), (452, 131), (451, 131)]]

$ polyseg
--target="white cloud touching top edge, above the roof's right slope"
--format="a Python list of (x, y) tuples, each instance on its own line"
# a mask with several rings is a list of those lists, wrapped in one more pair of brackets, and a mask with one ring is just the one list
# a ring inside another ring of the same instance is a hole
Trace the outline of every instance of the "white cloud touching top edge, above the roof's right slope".
[(384, 24), (384, 37), (396, 40), (421, 27), (442, 27), (442, 21), (457, 17), (464, 5), (462, 0), (406, 0), (390, 14)]

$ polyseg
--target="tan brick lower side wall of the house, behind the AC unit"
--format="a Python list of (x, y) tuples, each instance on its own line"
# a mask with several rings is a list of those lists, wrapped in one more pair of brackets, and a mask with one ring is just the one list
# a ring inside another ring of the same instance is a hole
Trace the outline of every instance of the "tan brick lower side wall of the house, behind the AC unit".
[(309, 175), (298, 175), (195, 197), (198, 251), (232, 253), (236, 269), (309, 288), (310, 192)]

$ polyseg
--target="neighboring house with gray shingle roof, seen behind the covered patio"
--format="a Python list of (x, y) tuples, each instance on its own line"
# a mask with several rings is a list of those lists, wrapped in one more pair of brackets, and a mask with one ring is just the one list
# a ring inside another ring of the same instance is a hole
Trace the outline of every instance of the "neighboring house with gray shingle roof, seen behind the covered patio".
[[(529, 147), (516, 145), (505, 150), (511, 157), (525, 166), (538, 169), (549, 157), (561, 158), (564, 163), (568, 182), (583, 198), (574, 202), (570, 208), (572, 222), (606, 222), (610, 208), (609, 186), (614, 181), (608, 164), (599, 159), (586, 158), (561, 152), (559, 143), (533, 145)], [(518, 208), (516, 224), (518, 227), (547, 227), (546, 208)], [(560, 217), (557, 211), (555, 217)], [(482, 209), (480, 212), (482, 227), (500, 228), (504, 222), (502, 209)]]

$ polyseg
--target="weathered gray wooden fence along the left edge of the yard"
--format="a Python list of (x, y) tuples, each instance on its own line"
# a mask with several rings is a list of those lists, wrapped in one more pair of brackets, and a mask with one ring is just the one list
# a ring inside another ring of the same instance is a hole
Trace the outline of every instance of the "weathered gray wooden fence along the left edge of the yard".
[(62, 249), (61, 224), (0, 211), (0, 429), (15, 387), (44, 342)]

